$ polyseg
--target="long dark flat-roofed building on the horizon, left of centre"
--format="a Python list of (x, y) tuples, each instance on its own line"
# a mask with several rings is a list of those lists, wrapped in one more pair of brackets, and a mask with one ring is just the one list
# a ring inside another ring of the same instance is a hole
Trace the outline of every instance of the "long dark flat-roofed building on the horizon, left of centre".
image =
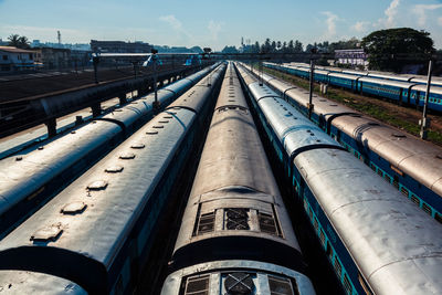
[(152, 46), (149, 43), (136, 41), (134, 43), (124, 41), (97, 41), (91, 40), (92, 52), (106, 53), (150, 53)]

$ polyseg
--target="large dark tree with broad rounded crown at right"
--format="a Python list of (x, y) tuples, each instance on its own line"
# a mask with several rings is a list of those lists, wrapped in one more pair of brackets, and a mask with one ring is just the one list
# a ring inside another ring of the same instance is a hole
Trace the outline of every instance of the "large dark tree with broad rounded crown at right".
[(404, 65), (427, 62), (434, 53), (433, 40), (425, 31), (410, 28), (370, 33), (361, 42), (371, 70), (400, 72)]

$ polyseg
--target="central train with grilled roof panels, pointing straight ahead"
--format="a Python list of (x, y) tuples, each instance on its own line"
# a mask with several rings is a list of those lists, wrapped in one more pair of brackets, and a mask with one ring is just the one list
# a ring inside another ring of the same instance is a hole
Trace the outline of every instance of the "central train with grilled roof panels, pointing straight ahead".
[(315, 294), (230, 63), (162, 295)]

